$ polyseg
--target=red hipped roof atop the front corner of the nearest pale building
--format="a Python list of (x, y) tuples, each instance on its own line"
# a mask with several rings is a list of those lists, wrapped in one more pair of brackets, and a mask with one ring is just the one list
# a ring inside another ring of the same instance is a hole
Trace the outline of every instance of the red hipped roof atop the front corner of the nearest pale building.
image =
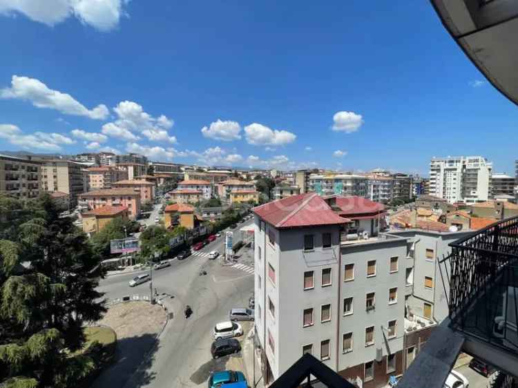
[(347, 220), (337, 215), (316, 193), (292, 195), (253, 208), (262, 220), (278, 229), (298, 226), (345, 224)]

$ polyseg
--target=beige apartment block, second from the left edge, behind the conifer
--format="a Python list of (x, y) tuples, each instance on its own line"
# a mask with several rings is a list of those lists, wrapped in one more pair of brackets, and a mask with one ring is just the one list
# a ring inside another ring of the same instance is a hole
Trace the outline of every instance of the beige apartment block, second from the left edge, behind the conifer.
[(77, 205), (77, 196), (83, 193), (83, 168), (79, 162), (64, 159), (42, 161), (41, 186), (44, 191), (54, 193), (61, 191), (70, 195), (70, 206)]

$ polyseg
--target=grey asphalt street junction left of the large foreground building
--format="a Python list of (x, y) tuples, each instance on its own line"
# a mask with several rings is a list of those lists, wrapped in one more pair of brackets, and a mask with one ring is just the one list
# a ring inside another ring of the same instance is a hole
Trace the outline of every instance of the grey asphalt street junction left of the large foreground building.
[[(157, 209), (155, 206), (148, 219), (152, 223)], [(235, 231), (251, 222), (239, 224)], [(153, 271), (153, 289), (159, 294), (173, 295), (165, 302), (169, 311), (172, 309), (174, 318), (162, 332), (151, 359), (145, 360), (144, 367), (124, 387), (205, 386), (210, 371), (224, 367), (221, 360), (216, 362), (211, 358), (212, 330), (216, 323), (228, 320), (232, 307), (248, 306), (249, 296), (253, 293), (253, 254), (244, 255), (236, 266), (224, 266), (220, 264), (220, 258), (209, 260), (210, 251), (218, 251), (220, 255), (224, 253), (224, 233), (188, 258), (172, 259), (171, 266)], [(200, 275), (202, 270), (207, 271), (207, 275)], [(149, 282), (133, 288), (128, 286), (136, 274), (110, 276), (100, 282), (98, 289), (108, 299), (149, 295)], [(183, 316), (186, 304), (193, 309), (188, 320)], [(247, 327), (251, 325), (247, 324)]]

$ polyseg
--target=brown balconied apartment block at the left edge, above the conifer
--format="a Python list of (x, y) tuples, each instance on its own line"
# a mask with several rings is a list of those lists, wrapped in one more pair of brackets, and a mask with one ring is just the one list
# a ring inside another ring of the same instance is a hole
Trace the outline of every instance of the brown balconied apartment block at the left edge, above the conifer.
[(0, 155), (0, 193), (34, 198), (41, 193), (41, 162)]

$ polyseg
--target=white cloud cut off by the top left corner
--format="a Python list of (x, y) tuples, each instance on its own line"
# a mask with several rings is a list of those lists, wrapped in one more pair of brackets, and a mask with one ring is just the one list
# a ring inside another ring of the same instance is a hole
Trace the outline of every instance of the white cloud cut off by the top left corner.
[(126, 14), (128, 0), (0, 0), (0, 14), (25, 14), (33, 21), (55, 26), (68, 17), (75, 16), (82, 23), (100, 31), (117, 27)]

